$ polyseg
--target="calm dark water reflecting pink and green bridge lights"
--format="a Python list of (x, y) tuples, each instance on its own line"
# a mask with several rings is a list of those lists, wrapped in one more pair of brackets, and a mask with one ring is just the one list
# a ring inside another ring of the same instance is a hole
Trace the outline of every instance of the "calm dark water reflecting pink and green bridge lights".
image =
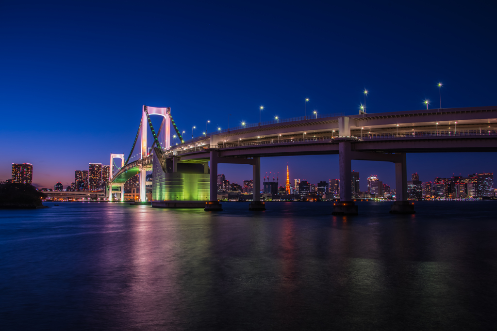
[(495, 330), (497, 203), (0, 210), (2, 330)]

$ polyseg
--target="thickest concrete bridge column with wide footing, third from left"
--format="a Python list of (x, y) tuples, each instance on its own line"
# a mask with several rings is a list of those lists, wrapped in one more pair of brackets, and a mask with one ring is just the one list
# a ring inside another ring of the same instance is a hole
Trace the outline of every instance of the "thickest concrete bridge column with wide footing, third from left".
[(333, 205), (333, 215), (357, 215), (357, 206), (352, 201), (352, 151), (350, 141), (338, 143), (340, 164), (340, 201)]

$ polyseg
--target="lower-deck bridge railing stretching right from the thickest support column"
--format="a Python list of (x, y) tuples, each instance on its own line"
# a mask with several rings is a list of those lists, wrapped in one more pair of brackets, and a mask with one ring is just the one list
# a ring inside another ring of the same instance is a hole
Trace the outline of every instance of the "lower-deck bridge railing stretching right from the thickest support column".
[(438, 130), (438, 131), (415, 131), (399, 132), (392, 134), (391, 132), (382, 133), (363, 133), (359, 134), (360, 139), (384, 139), (384, 138), (420, 138), (420, 137), (443, 137), (443, 136), (482, 136), (497, 134), (497, 130)]

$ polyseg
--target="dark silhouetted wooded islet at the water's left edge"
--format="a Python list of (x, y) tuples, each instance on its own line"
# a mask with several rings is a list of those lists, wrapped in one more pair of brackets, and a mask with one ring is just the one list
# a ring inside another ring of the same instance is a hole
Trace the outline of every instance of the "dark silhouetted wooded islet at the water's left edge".
[(0, 182), (0, 209), (48, 208), (41, 202), (44, 197), (30, 184)]

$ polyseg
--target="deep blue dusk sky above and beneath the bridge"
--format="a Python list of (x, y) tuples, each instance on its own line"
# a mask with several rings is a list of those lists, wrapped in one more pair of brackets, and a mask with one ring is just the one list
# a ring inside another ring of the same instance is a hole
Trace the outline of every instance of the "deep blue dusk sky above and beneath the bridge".
[[(319, 113), (497, 105), (495, 3), (453, 1), (0, 1), (0, 180), (68, 185), (89, 162), (129, 153), (143, 104), (189, 132)], [(492, 6), (491, 6), (492, 5)], [(209, 130), (210, 131), (210, 130)], [(200, 132), (198, 132), (200, 133)], [(495, 153), (408, 154), (422, 181), (494, 172)], [(338, 156), (264, 158), (284, 182), (338, 178)], [(354, 161), (394, 185), (389, 163)], [(227, 179), (251, 169), (221, 165)], [(283, 173), (283, 175), (281, 175)]]

